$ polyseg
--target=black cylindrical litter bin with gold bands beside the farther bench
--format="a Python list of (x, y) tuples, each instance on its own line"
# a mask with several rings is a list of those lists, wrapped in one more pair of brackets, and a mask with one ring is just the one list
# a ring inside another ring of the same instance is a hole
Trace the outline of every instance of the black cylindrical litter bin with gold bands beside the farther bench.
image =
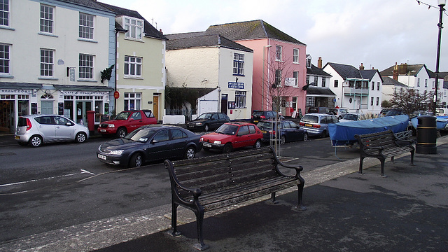
[(435, 116), (419, 116), (417, 118), (416, 153), (437, 154), (437, 127)]

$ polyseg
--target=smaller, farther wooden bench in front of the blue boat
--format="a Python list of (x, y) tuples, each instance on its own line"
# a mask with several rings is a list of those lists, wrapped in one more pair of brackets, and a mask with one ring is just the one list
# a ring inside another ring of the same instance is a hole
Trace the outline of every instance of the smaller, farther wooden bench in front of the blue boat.
[(378, 158), (381, 162), (381, 176), (384, 175), (384, 162), (402, 153), (411, 153), (411, 164), (414, 165), (414, 151), (411, 140), (397, 139), (392, 130), (371, 134), (356, 134), (360, 146), (359, 173), (363, 173), (364, 158)]

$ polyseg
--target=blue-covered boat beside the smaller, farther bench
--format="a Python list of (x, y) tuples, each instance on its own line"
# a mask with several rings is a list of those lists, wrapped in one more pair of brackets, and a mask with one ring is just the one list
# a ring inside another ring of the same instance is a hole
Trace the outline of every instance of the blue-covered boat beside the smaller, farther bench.
[(409, 116), (385, 116), (381, 118), (339, 122), (328, 125), (332, 146), (352, 146), (356, 143), (356, 134), (368, 134), (392, 130), (393, 133), (404, 132), (409, 126)]

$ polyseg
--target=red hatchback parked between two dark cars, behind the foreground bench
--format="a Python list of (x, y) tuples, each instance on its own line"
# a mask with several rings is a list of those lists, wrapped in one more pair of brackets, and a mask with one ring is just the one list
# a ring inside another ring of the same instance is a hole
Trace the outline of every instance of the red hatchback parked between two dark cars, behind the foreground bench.
[(204, 134), (200, 142), (204, 150), (220, 150), (228, 153), (234, 148), (253, 146), (261, 147), (263, 134), (253, 123), (225, 123), (210, 134)]

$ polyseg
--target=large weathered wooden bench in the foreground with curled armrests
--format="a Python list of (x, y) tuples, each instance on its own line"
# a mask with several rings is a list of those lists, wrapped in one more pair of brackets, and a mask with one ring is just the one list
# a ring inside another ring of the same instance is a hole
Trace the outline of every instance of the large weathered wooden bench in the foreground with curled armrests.
[[(295, 175), (281, 173), (279, 165), (295, 169), (292, 171)], [(177, 207), (192, 210), (196, 215), (199, 242), (195, 248), (199, 250), (209, 248), (202, 236), (206, 211), (269, 194), (275, 203), (275, 193), (292, 186), (298, 188), (297, 209), (306, 209), (302, 206), (304, 179), (300, 171), (303, 168), (281, 164), (272, 147), (178, 162), (165, 160), (165, 167), (169, 171), (172, 189), (172, 230), (169, 233), (181, 235), (176, 228)]]

